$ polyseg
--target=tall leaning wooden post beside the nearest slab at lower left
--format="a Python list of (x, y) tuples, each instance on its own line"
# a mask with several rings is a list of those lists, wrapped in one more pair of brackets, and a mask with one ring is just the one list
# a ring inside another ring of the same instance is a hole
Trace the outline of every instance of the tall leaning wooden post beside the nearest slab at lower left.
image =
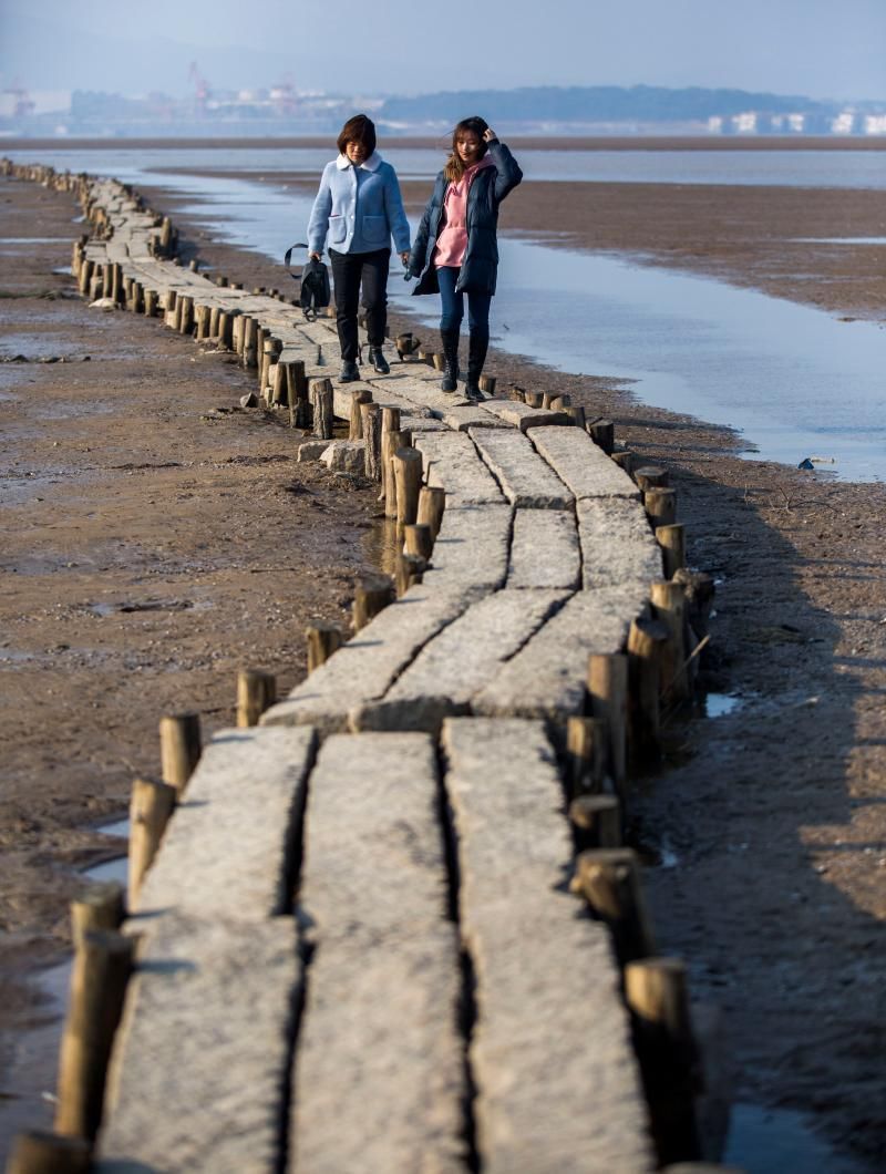
[(59, 1053), (55, 1128), (92, 1141), (101, 1125), (114, 1033), (133, 969), (135, 939), (92, 930), (74, 954), (70, 997)]

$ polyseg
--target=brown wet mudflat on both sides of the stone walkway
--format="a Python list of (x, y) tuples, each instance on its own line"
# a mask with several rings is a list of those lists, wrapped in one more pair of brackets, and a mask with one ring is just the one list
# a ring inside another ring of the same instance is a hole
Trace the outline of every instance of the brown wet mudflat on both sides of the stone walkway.
[[(404, 187), (412, 204), (427, 196), (426, 183)], [(150, 198), (180, 224), (185, 259), (283, 284), (279, 266), (214, 242), (170, 193)], [(43, 239), (0, 242), (14, 339), (2, 352), (28, 360), (0, 366), (0, 1088), (14, 1093), (9, 1065), (46, 1012), (33, 970), (66, 949), (77, 870), (113, 850), (94, 824), (123, 812), (134, 774), (156, 774), (160, 714), (230, 722), (246, 664), (293, 684), (304, 626), (346, 622), (376, 502), (365, 485), (296, 464), (297, 438), (273, 418), (238, 411), (252, 376), (229, 357), (68, 296), (70, 278), (53, 274), (79, 231), (68, 197), (2, 181), (0, 201), (4, 236)], [(502, 228), (881, 321), (875, 247), (858, 247), (871, 256), (855, 264), (853, 245), (831, 256), (789, 239), (882, 235), (881, 208), (865, 191), (526, 183)], [(392, 315), (392, 333), (407, 328)], [(52, 357), (70, 362), (36, 362)], [(502, 390), (569, 392), (671, 473), (689, 561), (715, 576), (717, 600), (701, 677), (710, 710), (671, 716), (662, 770), (633, 794), (658, 945), (722, 1010), (736, 1099), (809, 1113), (874, 1169), (886, 1145), (886, 488), (742, 460), (735, 434), (637, 404), (613, 378), (501, 352), (488, 371)], [(708, 716), (717, 703), (725, 711)], [(36, 1099), (15, 1104), (39, 1118)]]

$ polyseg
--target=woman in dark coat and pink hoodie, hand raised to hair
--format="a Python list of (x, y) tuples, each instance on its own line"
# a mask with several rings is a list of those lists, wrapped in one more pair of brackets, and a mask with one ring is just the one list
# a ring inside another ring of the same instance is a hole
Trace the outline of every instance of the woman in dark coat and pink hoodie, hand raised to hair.
[(467, 294), (465, 390), (482, 399), (480, 375), (489, 346), (489, 303), (499, 268), (499, 204), (522, 177), (514, 156), (482, 119), (459, 122), (452, 135), (452, 154), (437, 176), (406, 270), (407, 276), (420, 277), (413, 294), (440, 294), (444, 391), (458, 387), (459, 330)]

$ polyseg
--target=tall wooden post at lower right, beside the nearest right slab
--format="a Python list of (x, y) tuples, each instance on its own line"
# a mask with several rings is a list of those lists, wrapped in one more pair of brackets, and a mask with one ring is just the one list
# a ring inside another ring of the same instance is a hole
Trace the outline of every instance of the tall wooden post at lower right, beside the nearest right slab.
[(661, 1165), (701, 1158), (695, 1113), (699, 1058), (689, 1014), (687, 970), (678, 958), (624, 967), (624, 999)]

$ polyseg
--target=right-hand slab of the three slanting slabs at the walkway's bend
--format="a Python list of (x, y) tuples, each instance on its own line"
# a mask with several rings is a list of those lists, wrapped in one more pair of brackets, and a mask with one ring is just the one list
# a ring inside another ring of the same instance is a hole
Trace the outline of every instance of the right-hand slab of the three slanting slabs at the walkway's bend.
[(563, 723), (584, 706), (588, 657), (621, 652), (645, 593), (634, 587), (576, 592), (471, 700), (475, 714)]

